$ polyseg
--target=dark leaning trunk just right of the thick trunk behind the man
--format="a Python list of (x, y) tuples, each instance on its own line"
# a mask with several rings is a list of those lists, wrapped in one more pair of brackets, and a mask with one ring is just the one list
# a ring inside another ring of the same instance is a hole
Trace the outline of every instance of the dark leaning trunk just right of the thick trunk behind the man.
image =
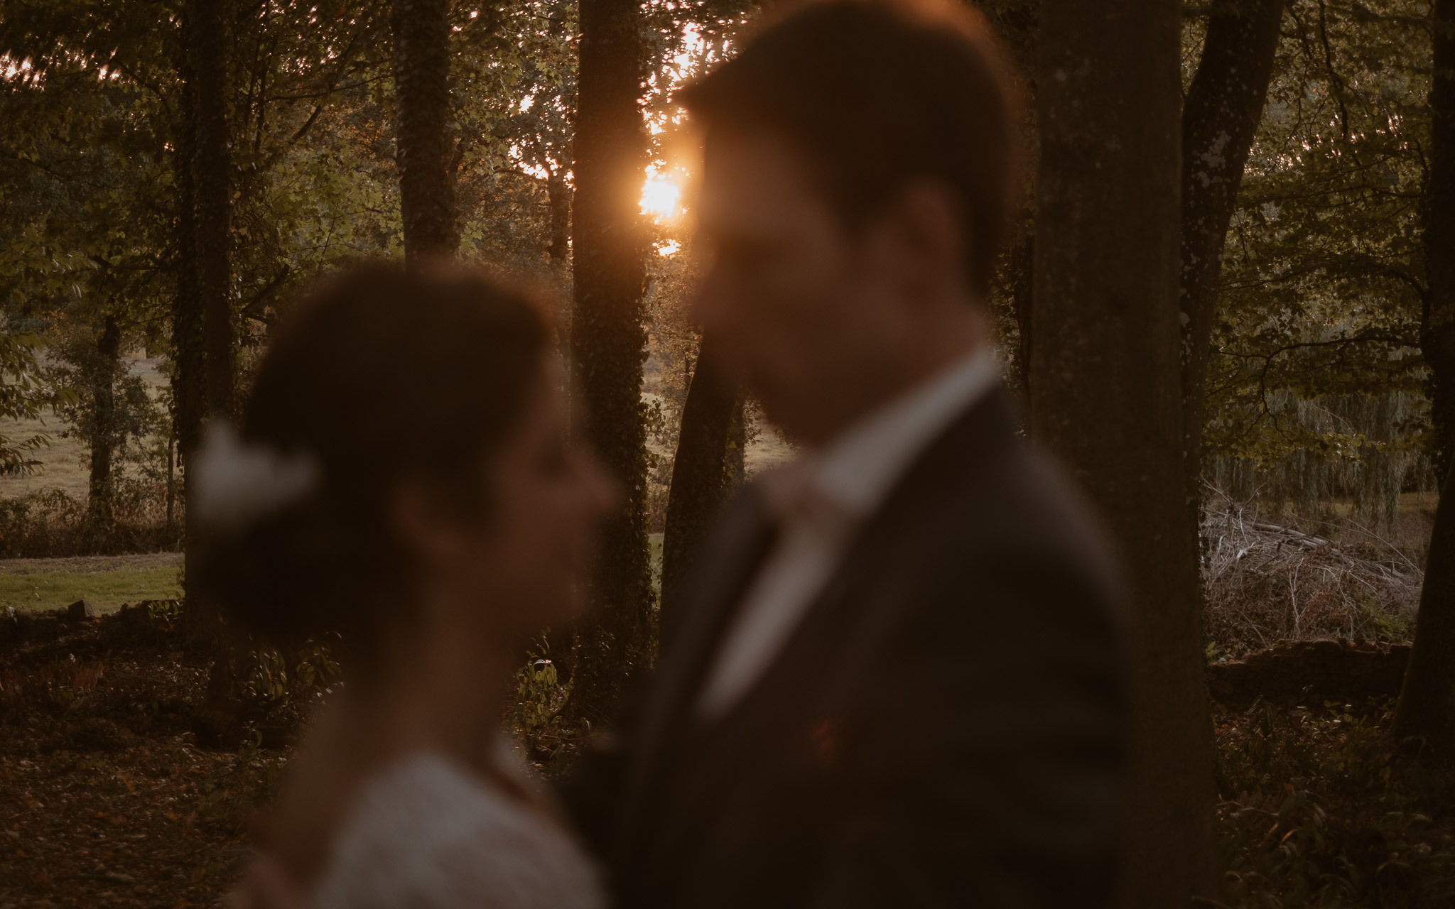
[(1181, 388), (1187, 496), (1202, 500), (1208, 353), (1222, 246), (1263, 105), (1286, 0), (1219, 0), (1183, 106)]

